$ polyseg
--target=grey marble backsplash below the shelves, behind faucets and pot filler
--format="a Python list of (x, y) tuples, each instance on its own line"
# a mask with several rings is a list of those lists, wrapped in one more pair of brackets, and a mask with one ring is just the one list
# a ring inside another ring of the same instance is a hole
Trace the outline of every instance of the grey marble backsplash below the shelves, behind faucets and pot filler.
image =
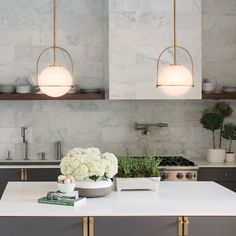
[[(96, 146), (115, 154), (181, 154), (205, 156), (212, 146), (211, 133), (199, 123), (211, 101), (27, 101), (1, 102), (0, 158), (10, 150), (22, 159), (20, 127), (28, 127), (32, 159), (46, 152), (55, 159), (55, 142), (64, 153), (73, 147)], [(236, 103), (231, 103), (236, 110)], [(236, 112), (230, 118), (236, 120)], [(149, 136), (134, 130), (134, 122), (167, 122), (168, 128), (152, 128)], [(236, 151), (236, 142), (233, 143)]]

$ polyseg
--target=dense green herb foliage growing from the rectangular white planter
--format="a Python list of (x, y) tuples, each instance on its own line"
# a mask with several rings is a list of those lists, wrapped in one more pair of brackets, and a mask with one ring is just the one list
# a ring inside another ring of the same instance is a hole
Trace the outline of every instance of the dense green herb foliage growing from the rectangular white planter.
[(118, 157), (118, 177), (158, 177), (160, 160), (154, 157)]

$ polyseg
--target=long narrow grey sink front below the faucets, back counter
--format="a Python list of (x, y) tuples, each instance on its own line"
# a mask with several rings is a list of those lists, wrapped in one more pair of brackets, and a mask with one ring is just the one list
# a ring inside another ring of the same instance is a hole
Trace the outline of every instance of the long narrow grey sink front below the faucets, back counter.
[(0, 160), (0, 165), (59, 165), (60, 160)]

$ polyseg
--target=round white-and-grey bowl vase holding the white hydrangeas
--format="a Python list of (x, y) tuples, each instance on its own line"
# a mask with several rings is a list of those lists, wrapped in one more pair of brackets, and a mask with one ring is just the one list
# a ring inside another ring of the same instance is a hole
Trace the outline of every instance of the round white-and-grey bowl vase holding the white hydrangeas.
[(81, 197), (103, 197), (111, 193), (112, 181), (107, 180), (81, 180), (76, 184)]

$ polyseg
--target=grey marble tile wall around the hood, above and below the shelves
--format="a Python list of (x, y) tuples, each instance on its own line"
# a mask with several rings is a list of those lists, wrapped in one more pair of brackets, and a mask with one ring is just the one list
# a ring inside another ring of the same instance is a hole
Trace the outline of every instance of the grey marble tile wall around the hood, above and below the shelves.
[[(51, 42), (51, 1), (0, 3), (0, 83), (25, 81), (34, 71), (38, 53)], [(129, 1), (125, 3), (127, 8), (132, 7), (131, 2), (130, 6)], [(103, 78), (109, 73), (103, 67), (109, 59), (106, 53), (104, 56), (107, 2), (58, 0), (58, 4), (58, 44), (72, 53), (78, 82), (81, 86), (103, 86)], [(219, 85), (236, 84), (235, 12), (235, 0), (202, 1), (203, 77), (216, 78)], [(158, 100), (0, 101), (0, 159), (7, 157), (8, 150), (13, 158), (22, 159), (22, 126), (29, 128), (33, 159), (38, 158), (38, 152), (55, 159), (54, 143), (58, 140), (63, 142), (65, 153), (74, 146), (97, 146), (116, 154), (202, 157), (211, 147), (211, 134), (201, 127), (199, 119), (202, 110), (213, 104)], [(235, 110), (231, 120), (235, 122), (236, 102), (231, 104)], [(154, 128), (150, 136), (142, 136), (133, 128), (135, 121), (168, 122), (169, 127)], [(236, 143), (233, 149), (236, 151)]]

